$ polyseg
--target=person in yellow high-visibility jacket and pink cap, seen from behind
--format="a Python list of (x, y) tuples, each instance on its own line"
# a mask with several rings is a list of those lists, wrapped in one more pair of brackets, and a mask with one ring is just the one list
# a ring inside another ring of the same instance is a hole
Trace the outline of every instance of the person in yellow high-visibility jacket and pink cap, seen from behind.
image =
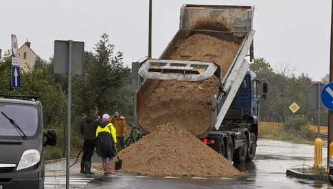
[(110, 115), (103, 114), (102, 123), (96, 129), (96, 153), (102, 157), (104, 175), (113, 174), (112, 160), (115, 157), (117, 131), (110, 122)]

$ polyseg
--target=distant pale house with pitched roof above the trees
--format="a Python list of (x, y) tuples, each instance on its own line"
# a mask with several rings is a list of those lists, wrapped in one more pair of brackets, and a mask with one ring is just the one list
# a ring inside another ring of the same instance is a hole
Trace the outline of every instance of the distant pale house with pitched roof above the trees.
[(17, 50), (17, 55), (19, 56), (20, 68), (23, 71), (30, 71), (34, 68), (36, 60), (41, 59), (34, 51), (32, 51), (31, 42), (28, 40)]

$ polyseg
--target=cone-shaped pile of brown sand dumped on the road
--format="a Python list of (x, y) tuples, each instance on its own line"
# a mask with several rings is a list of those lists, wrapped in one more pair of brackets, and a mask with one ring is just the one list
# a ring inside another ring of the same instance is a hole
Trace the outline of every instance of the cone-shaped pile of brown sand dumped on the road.
[(241, 175), (222, 155), (196, 136), (173, 126), (155, 127), (122, 150), (122, 171), (138, 175), (233, 177)]

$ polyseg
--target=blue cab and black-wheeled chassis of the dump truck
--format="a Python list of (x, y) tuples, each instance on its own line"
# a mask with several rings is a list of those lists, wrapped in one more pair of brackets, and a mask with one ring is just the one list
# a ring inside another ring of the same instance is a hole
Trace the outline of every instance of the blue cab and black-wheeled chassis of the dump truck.
[(257, 147), (260, 101), (268, 86), (253, 71), (247, 71), (218, 131), (211, 131), (204, 142), (230, 162), (253, 160)]

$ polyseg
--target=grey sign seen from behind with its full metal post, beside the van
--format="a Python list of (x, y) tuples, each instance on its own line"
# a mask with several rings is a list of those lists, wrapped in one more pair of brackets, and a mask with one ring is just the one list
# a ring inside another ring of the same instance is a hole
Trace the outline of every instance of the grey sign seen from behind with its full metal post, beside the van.
[[(84, 42), (73, 40), (54, 41), (54, 73), (68, 75), (67, 82), (67, 127), (66, 127), (66, 189), (69, 189), (71, 157), (71, 77), (83, 71)], [(74, 68), (73, 68), (74, 67)]]

